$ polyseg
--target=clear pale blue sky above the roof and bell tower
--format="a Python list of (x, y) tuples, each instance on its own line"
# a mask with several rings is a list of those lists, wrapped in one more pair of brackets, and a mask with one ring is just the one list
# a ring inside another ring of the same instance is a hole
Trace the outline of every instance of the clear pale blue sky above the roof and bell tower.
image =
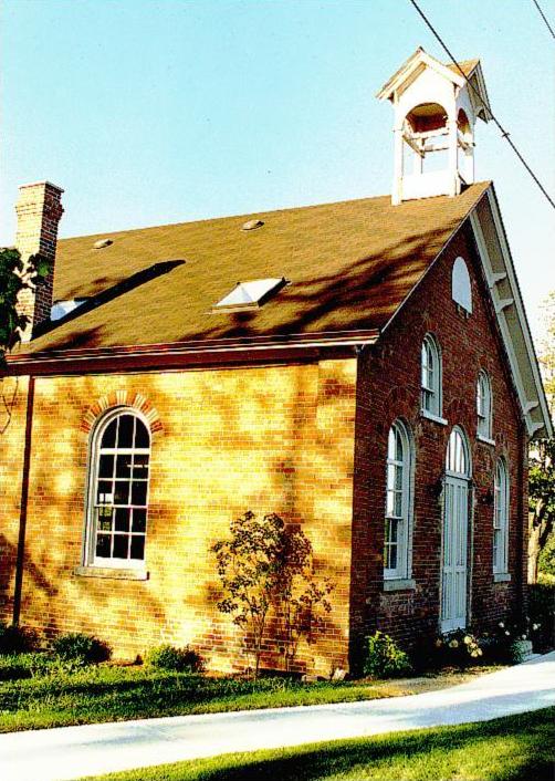
[[(555, 23), (555, 1), (542, 0)], [(532, 0), (421, 0), (555, 197), (555, 42)], [(421, 44), (408, 0), (3, 0), (0, 242), (17, 187), (65, 189), (62, 237), (390, 191), (376, 91)], [(555, 212), (492, 124), (492, 178), (533, 327)]]

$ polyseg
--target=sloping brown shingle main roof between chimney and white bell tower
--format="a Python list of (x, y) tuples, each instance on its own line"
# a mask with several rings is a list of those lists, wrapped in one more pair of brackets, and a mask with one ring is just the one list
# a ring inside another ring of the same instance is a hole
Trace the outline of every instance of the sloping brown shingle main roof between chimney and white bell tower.
[[(54, 299), (108, 294), (20, 352), (380, 329), (488, 187), (127, 230), (101, 250), (106, 235), (61, 240)], [(249, 218), (264, 226), (242, 231)], [(259, 310), (212, 313), (238, 281), (279, 277), (291, 284)]]

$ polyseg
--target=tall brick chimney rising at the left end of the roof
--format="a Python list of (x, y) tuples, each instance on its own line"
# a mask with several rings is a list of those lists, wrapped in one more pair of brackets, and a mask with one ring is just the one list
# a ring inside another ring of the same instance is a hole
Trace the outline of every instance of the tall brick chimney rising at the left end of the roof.
[(57, 223), (63, 214), (61, 204), (63, 190), (50, 181), (38, 181), (19, 188), (15, 205), (18, 230), (15, 247), (25, 263), (32, 254), (40, 252), (52, 263), (52, 271), (33, 290), (24, 290), (20, 296), (20, 308), (30, 323), (22, 334), (29, 342), (39, 323), (50, 320), (54, 288), (54, 260), (56, 254)]

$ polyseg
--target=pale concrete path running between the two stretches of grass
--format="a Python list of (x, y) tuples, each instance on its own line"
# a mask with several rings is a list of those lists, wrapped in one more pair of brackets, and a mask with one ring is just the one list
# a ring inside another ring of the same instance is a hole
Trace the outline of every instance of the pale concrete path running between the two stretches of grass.
[(408, 697), (0, 735), (2, 781), (66, 781), (235, 751), (486, 721), (555, 706), (555, 652)]

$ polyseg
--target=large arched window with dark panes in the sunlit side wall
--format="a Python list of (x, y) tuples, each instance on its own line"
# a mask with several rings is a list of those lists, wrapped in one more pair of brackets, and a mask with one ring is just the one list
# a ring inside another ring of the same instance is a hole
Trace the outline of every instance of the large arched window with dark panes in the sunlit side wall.
[(86, 562), (137, 566), (145, 559), (150, 433), (135, 410), (104, 417), (93, 433)]

